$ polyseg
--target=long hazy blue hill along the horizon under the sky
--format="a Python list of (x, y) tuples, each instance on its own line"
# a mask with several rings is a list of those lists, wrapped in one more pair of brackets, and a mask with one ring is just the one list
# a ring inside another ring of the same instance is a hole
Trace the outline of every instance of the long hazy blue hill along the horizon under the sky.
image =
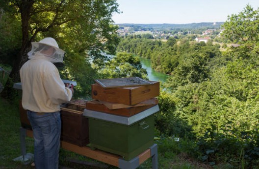
[(209, 29), (219, 29), (224, 22), (201, 22), (201, 23), (186, 23), (186, 24), (171, 24), (171, 23), (162, 23), (162, 24), (137, 24), (137, 23), (121, 23), (116, 24), (119, 27), (132, 27), (134, 29), (199, 29), (199, 28), (209, 28)]

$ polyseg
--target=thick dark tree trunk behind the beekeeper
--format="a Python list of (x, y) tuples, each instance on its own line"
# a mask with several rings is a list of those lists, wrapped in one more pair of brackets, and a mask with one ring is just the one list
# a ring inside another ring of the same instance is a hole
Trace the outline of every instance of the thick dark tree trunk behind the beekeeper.
[(30, 50), (30, 41), (29, 41), (29, 19), (31, 7), (34, 3), (34, 0), (23, 0), (18, 7), (21, 11), (22, 19), (22, 31), (23, 31), (23, 41), (20, 52), (17, 54), (14, 66), (9, 75), (9, 78), (1, 92), (1, 97), (5, 99), (13, 99), (16, 93), (16, 90), (13, 88), (13, 84), (20, 81), (20, 68), (27, 61), (27, 52)]

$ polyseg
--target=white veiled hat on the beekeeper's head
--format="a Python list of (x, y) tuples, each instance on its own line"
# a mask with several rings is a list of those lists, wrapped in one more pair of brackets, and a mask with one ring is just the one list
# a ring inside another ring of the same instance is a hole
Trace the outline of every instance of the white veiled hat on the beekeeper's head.
[(62, 63), (65, 51), (58, 47), (53, 38), (45, 38), (40, 42), (31, 42), (31, 51), (28, 52), (28, 58), (32, 59), (39, 54), (48, 57), (52, 63)]

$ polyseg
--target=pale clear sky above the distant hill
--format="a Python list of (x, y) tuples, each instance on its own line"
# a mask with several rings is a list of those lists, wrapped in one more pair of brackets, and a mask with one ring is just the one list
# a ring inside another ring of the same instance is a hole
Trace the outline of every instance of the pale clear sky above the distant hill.
[(117, 0), (115, 23), (200, 23), (227, 21), (247, 4), (254, 10), (259, 0)]

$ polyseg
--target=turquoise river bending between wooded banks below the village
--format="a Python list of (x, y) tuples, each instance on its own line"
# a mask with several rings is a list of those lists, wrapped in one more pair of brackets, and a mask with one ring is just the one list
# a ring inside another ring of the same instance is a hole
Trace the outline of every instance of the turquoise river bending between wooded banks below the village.
[(148, 78), (150, 81), (161, 81), (165, 82), (167, 79), (168, 75), (156, 72), (151, 68), (151, 61), (149, 59), (144, 59), (141, 57), (138, 57), (140, 59), (140, 62), (142, 64), (142, 68), (146, 69), (148, 72)]

